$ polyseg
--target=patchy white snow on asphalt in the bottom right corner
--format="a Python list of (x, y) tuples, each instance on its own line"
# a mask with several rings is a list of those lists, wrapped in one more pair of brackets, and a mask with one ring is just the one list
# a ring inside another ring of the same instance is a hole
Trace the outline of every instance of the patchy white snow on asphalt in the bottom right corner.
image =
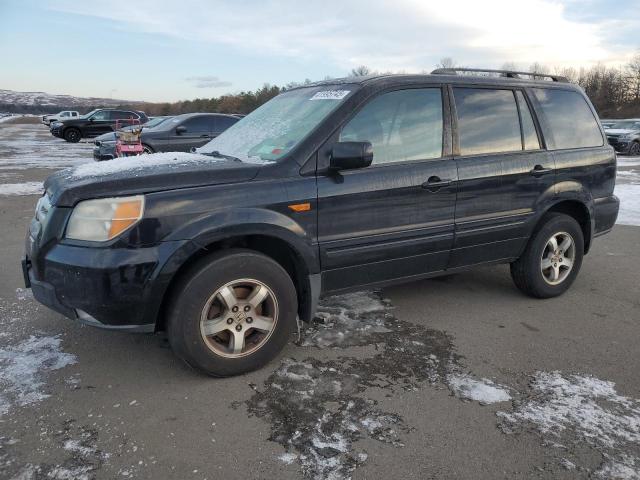
[(497, 413), (505, 433), (532, 427), (555, 444), (586, 442), (603, 458), (595, 476), (640, 478), (640, 400), (613, 382), (558, 371), (536, 372), (530, 388), (513, 411)]

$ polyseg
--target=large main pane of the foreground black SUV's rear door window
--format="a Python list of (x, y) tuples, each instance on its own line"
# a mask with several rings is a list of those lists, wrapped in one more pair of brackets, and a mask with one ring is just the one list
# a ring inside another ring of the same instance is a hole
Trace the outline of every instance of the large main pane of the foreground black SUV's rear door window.
[(461, 155), (522, 150), (520, 120), (511, 90), (454, 88)]

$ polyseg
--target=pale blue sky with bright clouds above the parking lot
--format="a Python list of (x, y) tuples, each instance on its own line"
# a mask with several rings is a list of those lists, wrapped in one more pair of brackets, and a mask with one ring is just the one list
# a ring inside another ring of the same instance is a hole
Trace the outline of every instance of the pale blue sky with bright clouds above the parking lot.
[(621, 65), (640, 0), (0, 0), (0, 89), (178, 101), (352, 68)]

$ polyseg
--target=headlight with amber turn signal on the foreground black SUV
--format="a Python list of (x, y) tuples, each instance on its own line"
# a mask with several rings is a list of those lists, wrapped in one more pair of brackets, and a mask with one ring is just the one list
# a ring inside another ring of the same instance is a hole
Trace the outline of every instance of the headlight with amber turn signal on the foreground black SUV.
[(85, 200), (73, 209), (66, 238), (106, 242), (138, 223), (143, 213), (142, 195)]

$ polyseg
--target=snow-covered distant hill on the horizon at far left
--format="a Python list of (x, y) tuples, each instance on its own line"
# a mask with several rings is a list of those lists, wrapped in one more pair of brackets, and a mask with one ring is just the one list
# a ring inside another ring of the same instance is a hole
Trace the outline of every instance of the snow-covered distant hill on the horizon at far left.
[(86, 112), (95, 107), (117, 107), (142, 102), (114, 98), (74, 97), (53, 95), (45, 92), (16, 92), (0, 89), (0, 112), (11, 113), (55, 113), (60, 110)]

